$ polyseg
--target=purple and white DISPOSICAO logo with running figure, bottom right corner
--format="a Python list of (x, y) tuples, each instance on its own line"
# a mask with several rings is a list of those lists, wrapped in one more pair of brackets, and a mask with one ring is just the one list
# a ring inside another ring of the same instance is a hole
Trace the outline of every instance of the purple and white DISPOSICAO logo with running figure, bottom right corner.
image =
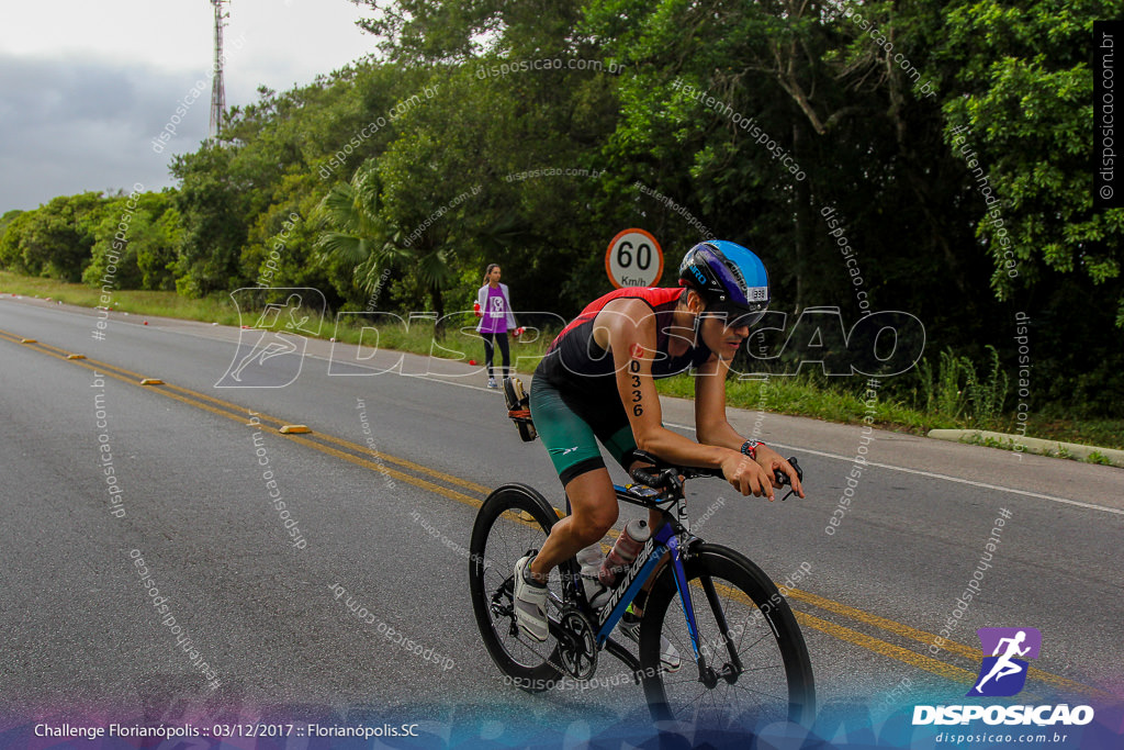
[[(1034, 627), (980, 627), (984, 660), (980, 674), (966, 697), (1006, 697), (1019, 693), (1026, 685), (1027, 659), (1037, 659), (1042, 634)], [(1067, 704), (1041, 706), (914, 706), (913, 723), (968, 724), (982, 720), (985, 724), (1050, 726), (1085, 725), (1093, 721), (1091, 706)]]

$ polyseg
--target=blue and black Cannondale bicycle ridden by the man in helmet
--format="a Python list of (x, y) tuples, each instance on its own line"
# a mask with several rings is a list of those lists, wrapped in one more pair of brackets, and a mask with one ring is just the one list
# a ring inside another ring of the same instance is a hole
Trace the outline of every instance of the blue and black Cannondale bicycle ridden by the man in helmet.
[[(552, 571), (545, 642), (516, 624), (514, 570), (519, 558), (537, 552), (559, 514), (527, 485), (504, 485), (488, 496), (472, 528), (469, 563), (472, 608), (488, 653), (511, 683), (536, 693), (568, 677), (588, 684), (598, 656), (608, 652), (643, 684), (656, 722), (733, 730), (810, 724), (812, 663), (785, 597), (744, 554), (690, 532), (683, 481), (722, 472), (636, 455), (651, 466), (631, 472), (637, 484), (614, 485), (617, 499), (656, 508), (662, 521), (600, 608), (586, 596), (577, 559)], [(797, 460), (789, 462), (803, 479)], [(788, 484), (780, 471), (776, 477)], [(637, 658), (611, 635), (629, 604), (644, 598), (642, 590), (647, 597)], [(661, 662), (661, 636), (687, 654), (680, 665)]]

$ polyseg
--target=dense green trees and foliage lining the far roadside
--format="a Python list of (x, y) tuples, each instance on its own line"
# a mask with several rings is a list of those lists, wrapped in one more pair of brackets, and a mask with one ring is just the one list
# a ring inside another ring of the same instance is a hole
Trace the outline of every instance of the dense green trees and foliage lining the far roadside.
[[(354, 1), (378, 61), (261, 90), (135, 209), (4, 215), (0, 268), (100, 286), (114, 252), (119, 288), (444, 314), (498, 262), (517, 307), (569, 317), (640, 226), (664, 283), (734, 240), (773, 309), (908, 311), (934, 362), (994, 344), (1016, 387), (1028, 317), (1039, 408), (1122, 414), (1124, 210), (1094, 209), (1088, 159), (1093, 21), (1120, 0)], [(787, 355), (844, 345), (813, 334)]]

